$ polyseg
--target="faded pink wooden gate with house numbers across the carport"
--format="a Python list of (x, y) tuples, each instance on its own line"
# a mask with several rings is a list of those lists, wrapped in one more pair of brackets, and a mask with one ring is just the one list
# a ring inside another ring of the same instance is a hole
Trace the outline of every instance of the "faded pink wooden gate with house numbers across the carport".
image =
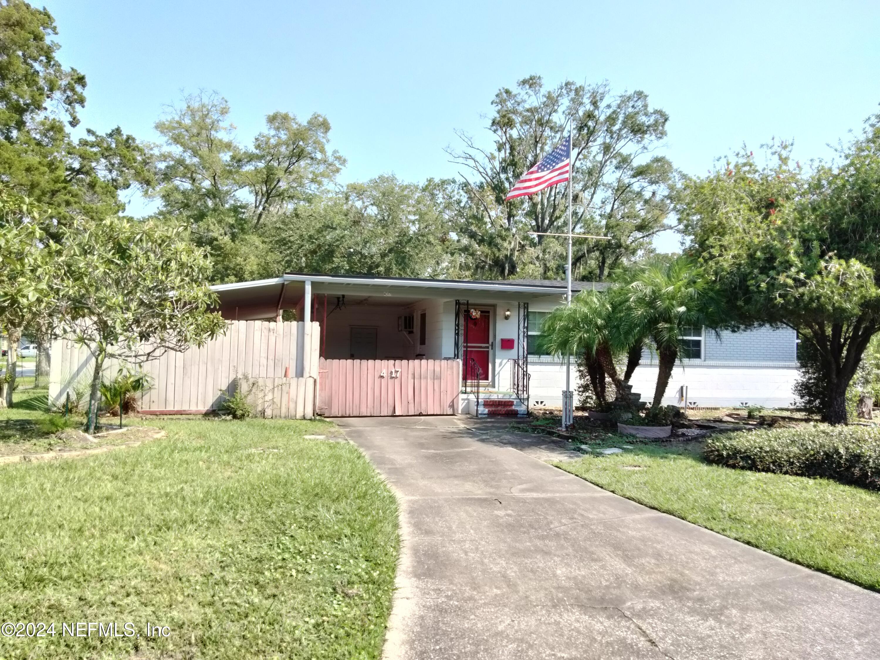
[(458, 414), (460, 360), (319, 361), (318, 414)]

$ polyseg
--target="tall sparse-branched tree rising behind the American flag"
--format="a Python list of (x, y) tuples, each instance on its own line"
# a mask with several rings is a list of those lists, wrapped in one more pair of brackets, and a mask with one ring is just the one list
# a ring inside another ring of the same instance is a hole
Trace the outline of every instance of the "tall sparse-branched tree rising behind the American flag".
[(568, 184), (505, 201), (532, 165), (568, 140), (573, 121), (576, 199), (573, 228), (608, 240), (576, 240), (576, 279), (605, 280), (615, 268), (652, 250), (667, 229), (671, 191), (678, 172), (656, 154), (669, 116), (645, 92), (612, 92), (611, 85), (564, 81), (546, 85), (539, 76), (502, 88), (492, 100), (488, 133), (458, 132), (450, 147), (460, 165), (458, 268), (461, 275), (490, 279), (562, 279), (563, 240), (529, 231), (567, 231)]

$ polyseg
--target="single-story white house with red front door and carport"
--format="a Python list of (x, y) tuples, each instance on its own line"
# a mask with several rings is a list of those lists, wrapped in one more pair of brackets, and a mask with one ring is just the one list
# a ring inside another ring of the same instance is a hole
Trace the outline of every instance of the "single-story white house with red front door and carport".
[[(572, 289), (607, 286), (573, 282)], [(459, 360), (462, 410), (475, 399), (480, 412), (561, 406), (564, 360), (542, 354), (538, 339), (546, 314), (564, 304), (565, 282), (290, 273), (213, 290), (226, 319), (280, 320), (284, 311), (295, 310), (297, 320), (318, 322), (320, 357), (326, 361)], [(664, 402), (677, 403), (685, 386), (692, 406), (793, 405), (794, 331), (688, 333)], [(656, 357), (646, 349), (632, 378), (642, 400), (653, 397), (656, 372)], [(573, 359), (572, 389), (576, 383)]]

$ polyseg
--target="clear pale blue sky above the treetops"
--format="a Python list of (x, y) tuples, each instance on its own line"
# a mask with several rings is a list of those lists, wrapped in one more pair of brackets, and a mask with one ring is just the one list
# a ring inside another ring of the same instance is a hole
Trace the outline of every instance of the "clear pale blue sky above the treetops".
[(453, 130), (478, 134), (495, 91), (532, 73), (647, 92), (691, 173), (773, 136), (828, 158), (880, 102), (876, 0), (46, 5), (62, 62), (88, 80), (83, 126), (155, 140), (165, 104), (216, 90), (245, 140), (275, 110), (325, 114), (345, 181), (453, 175)]

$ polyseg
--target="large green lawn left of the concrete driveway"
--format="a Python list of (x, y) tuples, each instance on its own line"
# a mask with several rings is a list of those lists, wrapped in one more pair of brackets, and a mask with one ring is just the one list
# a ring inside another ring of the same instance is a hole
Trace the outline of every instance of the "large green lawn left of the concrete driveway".
[[(154, 423), (166, 438), (0, 466), (0, 622), (56, 633), (0, 657), (378, 658), (397, 510), (356, 448), (303, 438), (326, 422)], [(140, 637), (62, 637), (76, 621)]]

